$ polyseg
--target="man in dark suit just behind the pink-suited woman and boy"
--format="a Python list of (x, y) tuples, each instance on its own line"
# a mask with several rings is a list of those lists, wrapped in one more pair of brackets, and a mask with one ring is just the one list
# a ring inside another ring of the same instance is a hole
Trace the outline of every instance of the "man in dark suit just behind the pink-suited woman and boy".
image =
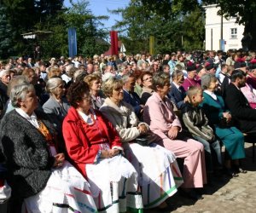
[(182, 71), (172, 72), (172, 89), (168, 93), (168, 97), (172, 100), (172, 102), (176, 105), (177, 109), (182, 109), (185, 105), (185, 97), (186, 91), (183, 88), (184, 78)]

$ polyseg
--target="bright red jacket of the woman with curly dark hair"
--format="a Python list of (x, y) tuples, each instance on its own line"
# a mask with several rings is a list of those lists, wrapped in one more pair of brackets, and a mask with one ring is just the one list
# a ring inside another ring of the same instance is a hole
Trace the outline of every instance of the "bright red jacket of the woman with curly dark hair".
[[(103, 130), (108, 135), (109, 147), (122, 147), (119, 134), (102, 113), (96, 111), (96, 119), (102, 124)], [(94, 164), (99, 146), (90, 143), (90, 135), (85, 135), (86, 125), (80, 118), (74, 107), (67, 112), (67, 117), (63, 121), (62, 132), (67, 147), (67, 154), (71, 158), (73, 165), (86, 177), (85, 164)]]

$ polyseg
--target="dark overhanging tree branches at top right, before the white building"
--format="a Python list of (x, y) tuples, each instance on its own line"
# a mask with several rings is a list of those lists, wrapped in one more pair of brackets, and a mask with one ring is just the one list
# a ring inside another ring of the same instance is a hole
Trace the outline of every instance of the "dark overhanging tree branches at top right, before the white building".
[(141, 2), (147, 9), (166, 18), (176, 16), (179, 13), (186, 14), (194, 11), (198, 6), (217, 4), (220, 8), (218, 14), (223, 14), (227, 19), (236, 17), (237, 23), (245, 26), (244, 35), (251, 38), (249, 49), (256, 49), (255, 0), (133, 0), (132, 2)]

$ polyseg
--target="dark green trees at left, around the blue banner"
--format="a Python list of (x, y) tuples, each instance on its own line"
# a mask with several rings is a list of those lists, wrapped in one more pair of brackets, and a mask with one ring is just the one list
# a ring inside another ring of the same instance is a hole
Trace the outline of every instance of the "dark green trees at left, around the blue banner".
[[(89, 1), (70, 1), (72, 7), (63, 7), (64, 0), (0, 0), (0, 57), (32, 55), (39, 44), (44, 58), (68, 55), (67, 29), (77, 31), (78, 55), (100, 54), (108, 49), (98, 43), (108, 32), (99, 30), (101, 20), (108, 16), (94, 16), (88, 9)], [(23, 39), (21, 34), (34, 31), (52, 32), (48, 37)]]

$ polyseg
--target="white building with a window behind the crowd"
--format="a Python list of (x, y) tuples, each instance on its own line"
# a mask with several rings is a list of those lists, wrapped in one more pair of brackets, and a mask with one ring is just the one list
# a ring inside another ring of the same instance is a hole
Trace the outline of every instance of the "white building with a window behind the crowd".
[[(216, 4), (207, 5), (206, 9), (206, 50), (220, 49), (221, 16), (217, 14), (219, 8)], [(241, 49), (241, 38), (244, 26), (236, 23), (236, 18), (226, 20), (223, 18), (224, 51), (228, 49)]]

